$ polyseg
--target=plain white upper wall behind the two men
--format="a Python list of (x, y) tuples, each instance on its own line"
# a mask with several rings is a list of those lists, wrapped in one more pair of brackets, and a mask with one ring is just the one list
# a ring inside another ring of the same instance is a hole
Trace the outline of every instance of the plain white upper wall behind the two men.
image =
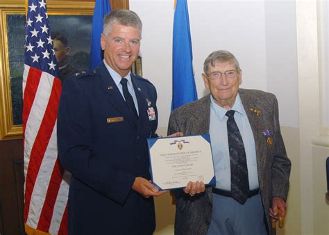
[[(167, 128), (171, 104), (173, 2), (130, 0), (130, 9), (144, 24), (143, 74), (158, 88), (161, 131)], [(291, 108), (298, 107), (294, 1), (189, 0), (188, 4), (199, 97), (206, 94), (201, 78), (204, 59), (214, 50), (226, 49), (242, 67), (242, 88), (274, 92), (281, 124), (298, 127), (298, 108)]]

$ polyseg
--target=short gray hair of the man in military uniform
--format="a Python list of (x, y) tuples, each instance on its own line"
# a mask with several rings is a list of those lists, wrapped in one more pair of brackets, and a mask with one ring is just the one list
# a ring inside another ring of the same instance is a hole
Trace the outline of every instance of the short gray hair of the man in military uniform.
[(111, 32), (111, 26), (113, 23), (121, 24), (124, 26), (132, 26), (140, 30), (140, 37), (142, 37), (142, 21), (140, 17), (132, 10), (113, 10), (108, 13), (103, 19), (103, 34), (108, 37)]

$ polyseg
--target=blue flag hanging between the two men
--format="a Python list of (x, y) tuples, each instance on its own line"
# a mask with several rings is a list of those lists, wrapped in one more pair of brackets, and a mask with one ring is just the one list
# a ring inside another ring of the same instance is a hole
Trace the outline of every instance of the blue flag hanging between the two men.
[(171, 110), (198, 99), (192, 60), (187, 1), (177, 0), (173, 33), (173, 97)]

